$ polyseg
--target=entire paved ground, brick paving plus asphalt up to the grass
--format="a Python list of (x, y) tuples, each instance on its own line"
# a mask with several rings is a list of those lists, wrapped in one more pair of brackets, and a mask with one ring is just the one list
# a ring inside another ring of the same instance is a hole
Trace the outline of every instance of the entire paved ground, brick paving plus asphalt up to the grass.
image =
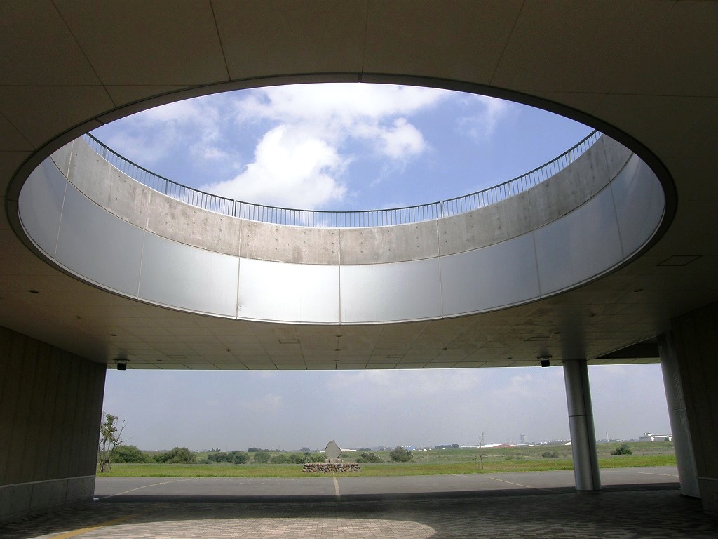
[[(0, 537), (718, 537), (718, 520), (704, 514), (699, 500), (680, 496), (675, 469), (606, 470), (602, 472), (607, 485), (604, 492), (584, 495), (570, 492), (565, 475), (393, 478), (398, 479), (393, 484), (377, 481), (389, 478), (357, 478), (360, 482), (353, 478), (337, 482), (331, 478), (255, 482), (144, 479), (134, 486), (126, 479), (103, 480), (98, 481), (100, 501), (0, 525)], [(214, 490), (202, 494), (202, 484)], [(449, 494), (444, 489), (452, 484), (466, 488)], [(472, 490), (480, 484), (493, 487)], [(137, 489), (134, 494), (125, 492), (128, 486)], [(409, 492), (411, 487), (418, 490)], [(308, 494), (307, 489), (311, 491)], [(250, 490), (258, 494), (251, 497)], [(200, 495), (187, 497), (190, 492)]]

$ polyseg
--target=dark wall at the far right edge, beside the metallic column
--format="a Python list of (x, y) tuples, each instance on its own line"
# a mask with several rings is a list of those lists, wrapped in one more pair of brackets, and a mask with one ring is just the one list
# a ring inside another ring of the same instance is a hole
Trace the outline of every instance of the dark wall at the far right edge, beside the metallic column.
[(703, 507), (718, 514), (718, 303), (672, 321)]

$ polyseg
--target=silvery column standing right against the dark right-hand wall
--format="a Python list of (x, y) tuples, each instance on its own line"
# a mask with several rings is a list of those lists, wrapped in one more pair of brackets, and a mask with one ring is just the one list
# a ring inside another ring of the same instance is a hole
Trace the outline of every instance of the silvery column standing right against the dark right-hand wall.
[(666, 389), (666, 403), (668, 404), (668, 419), (671, 420), (673, 434), (673, 451), (676, 452), (678, 476), (681, 481), (681, 494), (699, 498), (701, 492), (698, 486), (698, 473), (696, 459), (691, 443), (691, 429), (688, 425), (686, 400), (683, 395), (683, 383), (678, 368), (676, 346), (673, 344), (671, 333), (664, 333), (658, 340), (661, 346), (661, 372), (663, 372), (663, 387)]

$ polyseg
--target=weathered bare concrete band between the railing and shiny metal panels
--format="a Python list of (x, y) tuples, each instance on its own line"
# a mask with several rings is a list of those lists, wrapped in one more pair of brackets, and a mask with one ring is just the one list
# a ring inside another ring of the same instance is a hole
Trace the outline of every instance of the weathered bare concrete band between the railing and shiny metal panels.
[(55, 152), (52, 160), (98, 206), (172, 241), (271, 262), (358, 265), (457, 254), (526, 234), (587, 203), (630, 155), (623, 145), (601, 137), (564, 170), (505, 201), (437, 221), (360, 229), (260, 223), (188, 206), (131, 180), (81, 140)]

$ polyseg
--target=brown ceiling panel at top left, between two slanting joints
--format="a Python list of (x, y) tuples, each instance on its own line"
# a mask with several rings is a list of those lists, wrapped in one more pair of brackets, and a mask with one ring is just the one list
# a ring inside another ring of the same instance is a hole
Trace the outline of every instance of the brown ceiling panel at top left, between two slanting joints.
[(228, 80), (209, 2), (55, 0), (108, 86), (177, 86)]

